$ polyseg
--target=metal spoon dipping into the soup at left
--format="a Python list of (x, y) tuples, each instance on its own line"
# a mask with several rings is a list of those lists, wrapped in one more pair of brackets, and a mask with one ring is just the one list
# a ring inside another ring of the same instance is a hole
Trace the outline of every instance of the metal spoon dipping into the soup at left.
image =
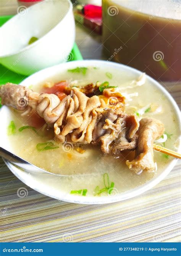
[(0, 147), (0, 156), (8, 161), (10, 161), (13, 165), (16, 165), (17, 167), (23, 168), (23, 170), (29, 171), (29, 172), (36, 172), (36, 173), (48, 173), (48, 174), (54, 174), (59, 176), (67, 176), (67, 175), (61, 175), (57, 173), (48, 172), (40, 167), (37, 167), (34, 164), (31, 164), (30, 162), (26, 161), (25, 159), (18, 157), (18, 155), (13, 154), (12, 152), (4, 149), (3, 147)]

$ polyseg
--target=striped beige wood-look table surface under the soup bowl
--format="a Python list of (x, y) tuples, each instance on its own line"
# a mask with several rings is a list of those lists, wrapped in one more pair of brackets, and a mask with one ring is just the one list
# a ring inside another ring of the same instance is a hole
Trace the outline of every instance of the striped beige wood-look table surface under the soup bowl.
[[(16, 0), (1, 0), (0, 15), (15, 14)], [(106, 59), (101, 38), (76, 25), (84, 59)], [(99, 48), (99, 50), (97, 50)], [(178, 105), (181, 82), (164, 83)], [(59, 202), (27, 187), (0, 159), (1, 241), (178, 242), (180, 241), (180, 161), (158, 185), (135, 198), (110, 205)], [(18, 188), (28, 196), (19, 198)]]

